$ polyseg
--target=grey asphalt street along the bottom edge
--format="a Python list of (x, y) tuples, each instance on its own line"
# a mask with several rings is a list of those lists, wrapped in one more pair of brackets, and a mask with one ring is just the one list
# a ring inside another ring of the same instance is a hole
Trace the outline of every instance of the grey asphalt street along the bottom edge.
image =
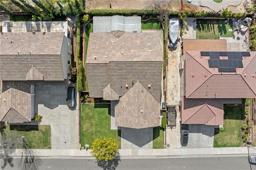
[[(3, 169), (19, 169), (17, 159), (13, 160), (13, 167), (8, 163)], [(2, 165), (1, 165), (2, 166)], [(114, 160), (109, 165), (98, 165), (95, 159), (41, 159), (41, 169), (80, 170), (80, 169), (187, 169), (187, 170), (249, 170), (256, 169), (250, 165), (248, 157), (201, 157), (201, 158), (154, 158), (154, 159), (121, 159)]]

